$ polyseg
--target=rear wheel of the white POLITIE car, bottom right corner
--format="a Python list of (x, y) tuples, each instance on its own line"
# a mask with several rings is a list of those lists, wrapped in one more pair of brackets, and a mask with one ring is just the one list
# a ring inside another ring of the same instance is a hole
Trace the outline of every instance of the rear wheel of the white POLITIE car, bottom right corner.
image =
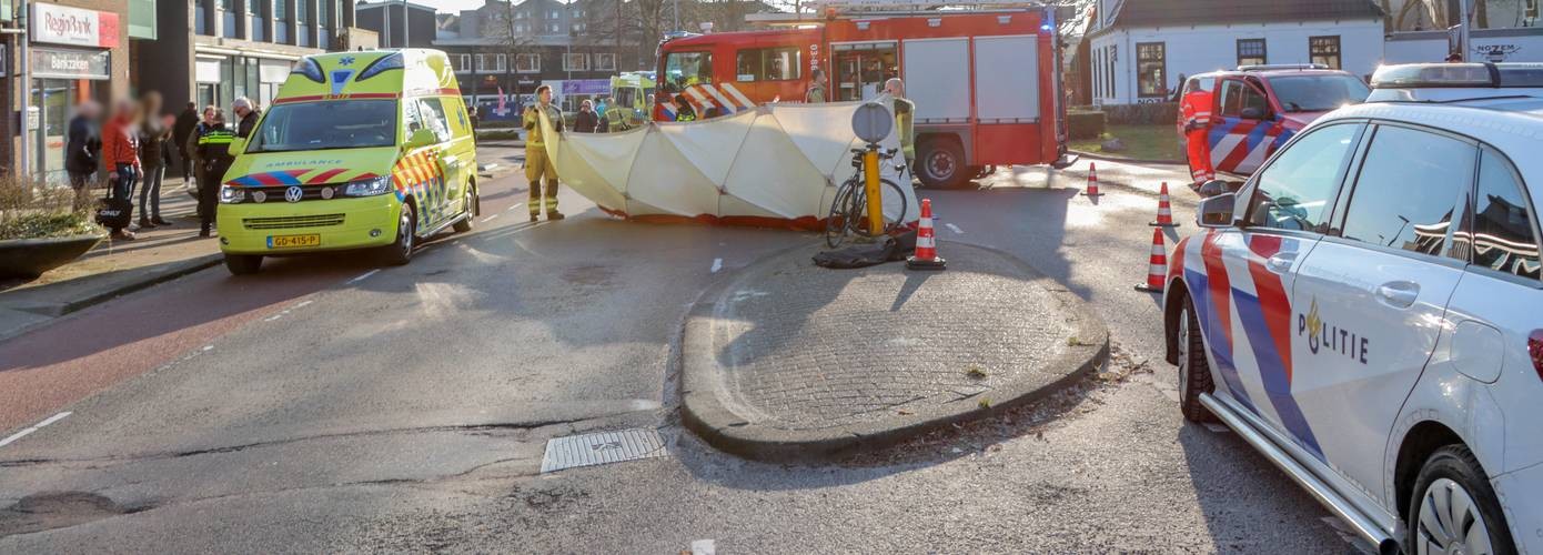
[(1474, 452), (1455, 444), (1426, 459), (1409, 500), (1409, 553), (1515, 553), (1506, 515)]

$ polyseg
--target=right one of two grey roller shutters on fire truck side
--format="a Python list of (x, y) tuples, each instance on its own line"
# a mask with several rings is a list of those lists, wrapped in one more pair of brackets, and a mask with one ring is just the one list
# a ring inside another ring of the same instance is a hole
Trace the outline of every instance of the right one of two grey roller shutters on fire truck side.
[(975, 39), (975, 74), (991, 76), (989, 86), (975, 86), (975, 117), (981, 123), (1040, 120), (1038, 46), (1034, 35)]

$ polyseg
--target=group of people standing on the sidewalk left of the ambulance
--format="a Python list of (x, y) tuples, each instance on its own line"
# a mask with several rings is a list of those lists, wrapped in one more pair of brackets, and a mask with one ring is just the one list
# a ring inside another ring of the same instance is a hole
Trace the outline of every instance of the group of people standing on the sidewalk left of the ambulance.
[[(76, 190), (77, 205), (91, 205), (91, 188), (105, 177), (108, 196), (103, 204), (108, 210), (103, 213), (113, 216), (99, 220), (113, 239), (131, 240), (136, 188), (139, 230), (171, 225), (160, 216), (160, 185), (168, 168), (181, 166), (184, 182), (196, 179), (198, 183), (201, 236), (211, 236), (219, 180), (233, 162), (227, 151), (230, 140), (250, 136), (261, 117), (245, 97), (236, 99), (231, 109), (238, 117), (236, 128), (227, 128), (224, 114), (213, 105), (201, 114), (188, 102), (181, 114), (165, 114), (156, 91), (145, 92), (139, 102), (116, 102), (105, 120), (100, 105), (91, 100), (80, 103), (65, 139), (65, 171), (69, 187)], [(218, 145), (225, 145), (225, 150)]]

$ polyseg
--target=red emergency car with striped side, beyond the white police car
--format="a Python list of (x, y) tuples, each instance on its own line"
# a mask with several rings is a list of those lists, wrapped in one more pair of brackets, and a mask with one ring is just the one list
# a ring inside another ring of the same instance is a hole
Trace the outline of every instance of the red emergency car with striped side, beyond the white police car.
[[(1211, 166), (1241, 176), (1259, 170), (1270, 154), (1319, 116), (1366, 102), (1372, 94), (1361, 77), (1316, 63), (1197, 74), (1185, 80), (1179, 100), (1197, 88), (1211, 91), (1211, 122), (1205, 133)], [(1183, 153), (1182, 109), (1177, 133)]]

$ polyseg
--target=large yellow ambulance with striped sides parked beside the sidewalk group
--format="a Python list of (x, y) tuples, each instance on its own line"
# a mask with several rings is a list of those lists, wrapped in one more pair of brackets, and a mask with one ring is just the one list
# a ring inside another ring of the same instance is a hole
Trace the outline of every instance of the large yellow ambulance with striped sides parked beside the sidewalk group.
[(230, 151), (216, 222), (235, 274), (349, 248), (407, 264), (420, 239), (477, 219), (477, 148), (440, 51), (307, 56)]

